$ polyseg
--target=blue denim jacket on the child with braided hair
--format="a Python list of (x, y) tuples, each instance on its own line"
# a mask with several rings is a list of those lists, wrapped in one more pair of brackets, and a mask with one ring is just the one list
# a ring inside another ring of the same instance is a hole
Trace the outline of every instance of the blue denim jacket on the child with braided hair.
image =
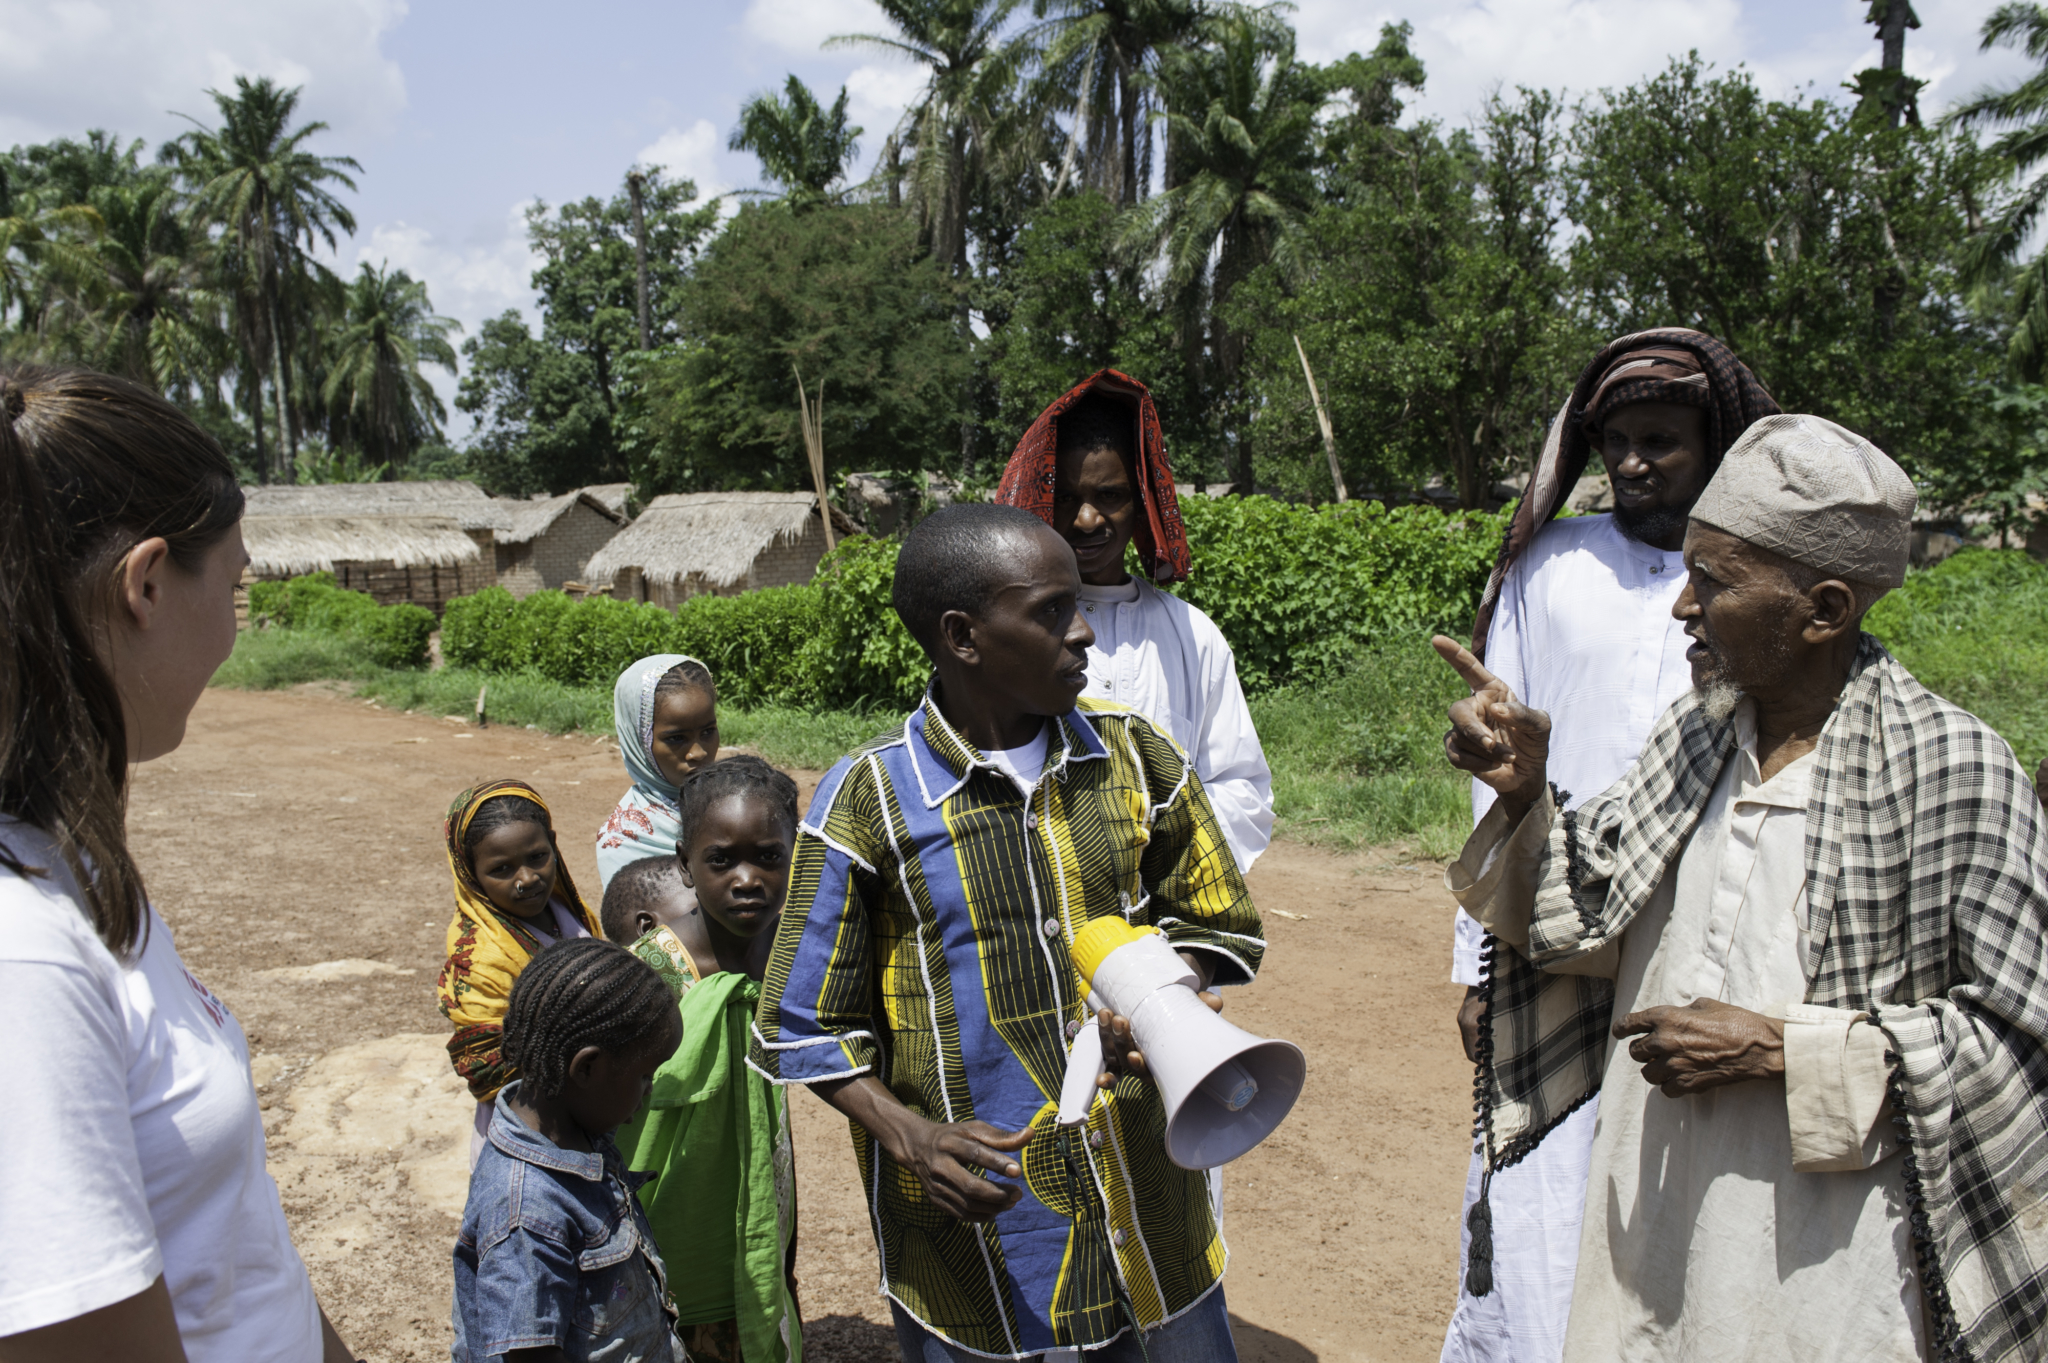
[(686, 1363), (662, 1255), (618, 1148), (563, 1150), (506, 1099), (455, 1242), (455, 1363), (559, 1345), (571, 1363)]

